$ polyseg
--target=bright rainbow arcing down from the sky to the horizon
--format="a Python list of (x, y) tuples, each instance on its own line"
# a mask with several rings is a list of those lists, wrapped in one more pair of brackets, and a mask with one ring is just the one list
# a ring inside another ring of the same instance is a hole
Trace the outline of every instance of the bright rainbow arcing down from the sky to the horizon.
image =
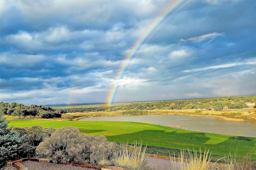
[(153, 22), (145, 29), (143, 34), (138, 38), (138, 40), (134, 43), (132, 48), (129, 50), (128, 54), (126, 55), (124, 61), (121, 64), (121, 67), (119, 68), (116, 78), (114, 81), (114, 85), (111, 87), (108, 97), (106, 100), (106, 104), (109, 106), (112, 105), (114, 102), (119, 81), (122, 78), (124, 71), (126, 71), (126, 68), (128, 67), (131, 59), (135, 56), (137, 50), (141, 47), (143, 43), (145, 43), (153, 34), (156, 32), (157, 28), (172, 14), (176, 13), (178, 10), (180, 10), (183, 6), (185, 6), (188, 3), (188, 0), (175, 0), (171, 1), (170, 4), (153, 20)]

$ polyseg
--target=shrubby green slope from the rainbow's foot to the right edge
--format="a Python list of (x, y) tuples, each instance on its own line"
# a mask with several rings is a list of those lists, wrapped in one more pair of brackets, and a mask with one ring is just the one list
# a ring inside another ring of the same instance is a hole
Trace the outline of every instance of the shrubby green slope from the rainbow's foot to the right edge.
[(248, 107), (246, 102), (254, 103), (256, 96), (232, 96), (232, 97), (214, 97), (206, 99), (191, 99), (177, 101), (156, 101), (156, 102), (137, 102), (124, 103), (119, 106), (111, 107), (110, 111), (117, 110), (153, 110), (153, 109), (205, 109), (221, 111), (224, 107), (228, 109), (242, 109)]

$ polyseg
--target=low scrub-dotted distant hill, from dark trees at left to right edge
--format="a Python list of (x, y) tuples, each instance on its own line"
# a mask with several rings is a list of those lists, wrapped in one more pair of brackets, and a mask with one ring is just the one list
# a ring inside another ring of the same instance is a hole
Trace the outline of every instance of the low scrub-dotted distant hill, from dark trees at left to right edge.
[(181, 109), (205, 109), (220, 111), (222, 109), (242, 109), (254, 107), (256, 96), (228, 96), (200, 99), (179, 99), (164, 101), (136, 101), (126, 103), (114, 103), (112, 106), (106, 104), (86, 104), (60, 106), (67, 113), (94, 112), (94, 111), (118, 111), (137, 110), (146, 111), (154, 109), (181, 110)]

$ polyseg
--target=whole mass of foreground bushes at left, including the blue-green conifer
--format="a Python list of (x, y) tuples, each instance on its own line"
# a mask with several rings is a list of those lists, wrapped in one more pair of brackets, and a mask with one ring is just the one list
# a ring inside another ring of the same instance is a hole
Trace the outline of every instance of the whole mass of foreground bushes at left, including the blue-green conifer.
[(7, 161), (36, 157), (51, 158), (53, 162), (88, 162), (113, 165), (119, 154), (115, 142), (105, 136), (89, 136), (75, 127), (8, 128), (7, 121), (0, 119), (0, 167)]

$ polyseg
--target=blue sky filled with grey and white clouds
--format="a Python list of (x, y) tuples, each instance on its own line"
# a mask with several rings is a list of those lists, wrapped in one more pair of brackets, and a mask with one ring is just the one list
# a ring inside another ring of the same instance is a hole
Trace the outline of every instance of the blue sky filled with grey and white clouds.
[(129, 61), (134, 43), (176, 2), (0, 3), (0, 101), (105, 103), (114, 92), (114, 102), (256, 94), (254, 0), (184, 2)]

